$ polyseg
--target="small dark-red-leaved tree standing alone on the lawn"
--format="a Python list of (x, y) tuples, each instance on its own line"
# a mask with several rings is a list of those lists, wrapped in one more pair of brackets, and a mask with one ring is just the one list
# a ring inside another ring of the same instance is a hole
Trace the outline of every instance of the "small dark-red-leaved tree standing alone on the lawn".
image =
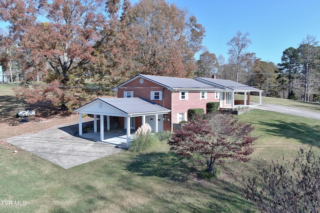
[(232, 115), (198, 116), (181, 125), (180, 130), (174, 130), (168, 144), (170, 150), (178, 155), (202, 156), (207, 171), (212, 173), (216, 161), (223, 163), (228, 158), (243, 162), (249, 160), (248, 156), (253, 152), (252, 145), (257, 139), (249, 135), (252, 131), (250, 124), (243, 124)]

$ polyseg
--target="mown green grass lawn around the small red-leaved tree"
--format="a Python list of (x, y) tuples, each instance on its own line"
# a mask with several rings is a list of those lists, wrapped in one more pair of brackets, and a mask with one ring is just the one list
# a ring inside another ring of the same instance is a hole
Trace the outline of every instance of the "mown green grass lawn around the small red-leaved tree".
[(210, 181), (198, 179), (200, 165), (176, 156), (165, 142), (67, 170), (28, 152), (13, 153), (17, 148), (1, 142), (0, 212), (256, 212), (241, 196), (242, 177), (272, 160), (291, 160), (300, 147), (317, 150), (320, 120), (260, 110), (238, 118), (255, 127), (256, 150), (248, 163), (218, 164), (222, 174)]

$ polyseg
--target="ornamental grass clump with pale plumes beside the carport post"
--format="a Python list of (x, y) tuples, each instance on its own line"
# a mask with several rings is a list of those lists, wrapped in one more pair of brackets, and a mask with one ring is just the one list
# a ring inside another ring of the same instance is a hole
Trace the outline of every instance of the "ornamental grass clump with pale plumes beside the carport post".
[(135, 137), (130, 143), (129, 151), (143, 152), (157, 142), (157, 137), (151, 133), (150, 125), (146, 123), (135, 131)]

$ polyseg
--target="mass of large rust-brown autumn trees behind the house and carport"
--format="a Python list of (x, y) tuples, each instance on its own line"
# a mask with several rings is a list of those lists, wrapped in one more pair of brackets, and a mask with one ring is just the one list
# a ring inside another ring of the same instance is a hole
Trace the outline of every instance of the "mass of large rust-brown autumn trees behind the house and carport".
[(25, 76), (18, 97), (69, 110), (90, 98), (88, 80), (112, 88), (138, 73), (192, 75), (204, 36), (194, 16), (164, 0), (4, 0), (0, 8)]

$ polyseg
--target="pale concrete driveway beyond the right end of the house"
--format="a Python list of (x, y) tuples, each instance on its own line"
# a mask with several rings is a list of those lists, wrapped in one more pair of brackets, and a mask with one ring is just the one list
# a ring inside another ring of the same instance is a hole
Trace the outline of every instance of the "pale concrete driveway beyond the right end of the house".
[(313, 112), (313, 111), (303, 110), (303, 109), (294, 108), (294, 107), (262, 103), (262, 106), (256, 106), (254, 107), (254, 109), (266, 110), (271, 112), (279, 112), (279, 113), (284, 113), (289, 115), (296, 115), (296, 116), (320, 120), (320, 112)]

